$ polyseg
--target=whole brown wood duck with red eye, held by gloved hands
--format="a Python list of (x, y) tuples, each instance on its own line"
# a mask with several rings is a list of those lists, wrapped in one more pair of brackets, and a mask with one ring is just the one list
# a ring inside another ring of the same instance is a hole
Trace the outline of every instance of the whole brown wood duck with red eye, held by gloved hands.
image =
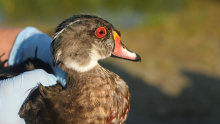
[(127, 84), (98, 61), (118, 57), (140, 61), (121, 42), (120, 32), (94, 15), (75, 15), (56, 29), (53, 64), (66, 72), (66, 87), (36, 89), (21, 107), (26, 123), (123, 124), (130, 109)]

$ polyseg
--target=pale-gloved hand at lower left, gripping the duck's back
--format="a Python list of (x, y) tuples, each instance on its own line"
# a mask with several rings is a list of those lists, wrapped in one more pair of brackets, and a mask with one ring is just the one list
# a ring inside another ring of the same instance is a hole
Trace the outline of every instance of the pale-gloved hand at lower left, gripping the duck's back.
[(25, 124), (18, 115), (29, 93), (38, 87), (56, 84), (57, 78), (42, 69), (24, 72), (0, 81), (0, 123)]

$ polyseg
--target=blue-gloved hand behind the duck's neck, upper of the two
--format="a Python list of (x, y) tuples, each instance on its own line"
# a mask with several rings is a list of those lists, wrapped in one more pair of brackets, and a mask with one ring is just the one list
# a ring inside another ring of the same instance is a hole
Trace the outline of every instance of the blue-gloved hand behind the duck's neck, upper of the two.
[(53, 67), (52, 57), (50, 54), (51, 42), (51, 37), (40, 32), (36, 28), (25, 28), (16, 38), (9, 56), (8, 64), (13, 66), (27, 60), (28, 58), (37, 57), (38, 59), (51, 65), (57, 80), (65, 87), (66, 73), (59, 67)]

